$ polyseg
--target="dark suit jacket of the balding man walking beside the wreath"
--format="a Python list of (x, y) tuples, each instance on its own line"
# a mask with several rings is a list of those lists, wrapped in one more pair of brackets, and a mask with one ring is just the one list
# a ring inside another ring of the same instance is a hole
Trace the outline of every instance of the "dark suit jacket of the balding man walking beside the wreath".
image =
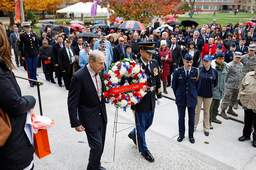
[[(103, 78), (103, 69), (100, 76)], [(101, 84), (103, 92), (102, 80)], [(87, 66), (76, 71), (71, 78), (68, 110), (71, 127), (82, 125), (86, 132), (96, 132), (100, 126), (101, 114), (107, 124), (107, 111), (103, 95), (101, 95), (100, 101)]]

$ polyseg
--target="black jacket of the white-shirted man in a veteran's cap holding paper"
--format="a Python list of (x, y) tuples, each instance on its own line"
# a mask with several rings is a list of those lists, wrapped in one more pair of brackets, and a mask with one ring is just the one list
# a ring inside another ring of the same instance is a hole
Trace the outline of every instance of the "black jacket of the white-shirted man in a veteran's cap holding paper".
[[(70, 50), (73, 52), (74, 55), (76, 55), (75, 50), (73, 47), (70, 46)], [(69, 58), (69, 54), (66, 51), (65, 46), (60, 48), (60, 50), (58, 51), (58, 62), (59, 62), (59, 66), (60, 66), (60, 70), (64, 71), (64, 74), (69, 74), (70, 73), (70, 58)], [(73, 69), (73, 68), (72, 68)]]

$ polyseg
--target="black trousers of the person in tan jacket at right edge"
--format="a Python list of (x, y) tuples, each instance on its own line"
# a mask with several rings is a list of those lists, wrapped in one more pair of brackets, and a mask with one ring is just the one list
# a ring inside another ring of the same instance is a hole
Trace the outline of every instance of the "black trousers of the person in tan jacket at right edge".
[[(252, 109), (244, 110), (244, 129), (243, 136), (248, 138), (252, 133), (252, 124), (256, 125), (256, 113)], [(253, 132), (253, 140), (256, 140), (256, 131)]]

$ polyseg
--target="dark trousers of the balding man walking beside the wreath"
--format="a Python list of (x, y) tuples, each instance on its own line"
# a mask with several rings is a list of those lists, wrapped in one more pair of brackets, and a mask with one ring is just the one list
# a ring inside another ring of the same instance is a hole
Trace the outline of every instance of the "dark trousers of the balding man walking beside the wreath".
[(99, 129), (96, 132), (85, 132), (89, 147), (91, 148), (87, 170), (99, 170), (99, 167), (101, 167), (101, 155), (104, 150), (106, 127), (106, 122), (101, 113)]

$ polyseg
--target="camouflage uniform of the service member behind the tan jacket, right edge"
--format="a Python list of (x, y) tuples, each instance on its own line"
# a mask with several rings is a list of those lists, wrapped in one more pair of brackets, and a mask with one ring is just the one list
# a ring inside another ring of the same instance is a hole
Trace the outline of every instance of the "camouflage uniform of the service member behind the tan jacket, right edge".
[(245, 54), (242, 56), (242, 59), (240, 62), (243, 63), (243, 65), (244, 65), (244, 69), (242, 72), (242, 78), (241, 78), (241, 81), (242, 81), (248, 72), (254, 70), (255, 63), (256, 63), (256, 54), (254, 54), (253, 58), (251, 58), (249, 56), (249, 54)]

